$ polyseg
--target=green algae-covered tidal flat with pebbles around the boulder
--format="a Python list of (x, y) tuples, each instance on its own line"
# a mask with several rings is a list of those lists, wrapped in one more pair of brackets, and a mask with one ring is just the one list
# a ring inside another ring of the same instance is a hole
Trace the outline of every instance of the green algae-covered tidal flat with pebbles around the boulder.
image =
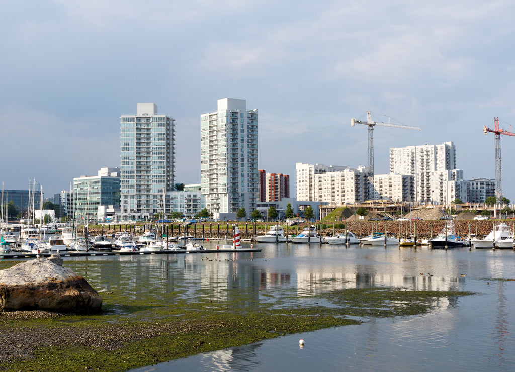
[[(175, 259), (171, 263), (181, 260)], [(0, 262), (0, 269), (18, 262)], [(345, 281), (342, 278), (321, 281), (319, 287), (327, 285), (321, 291), (261, 289), (256, 299), (245, 286), (220, 287), (211, 280), (192, 287), (181, 276), (167, 277), (168, 270), (163, 278), (170, 262), (159, 262), (153, 270), (143, 263), (65, 261), (98, 290), (104, 299), (102, 313), (0, 314), (2, 369), (123, 371), (291, 333), (360, 324), (370, 317), (424, 314), (439, 297), (473, 294), (394, 287), (332, 289), (335, 281)]]

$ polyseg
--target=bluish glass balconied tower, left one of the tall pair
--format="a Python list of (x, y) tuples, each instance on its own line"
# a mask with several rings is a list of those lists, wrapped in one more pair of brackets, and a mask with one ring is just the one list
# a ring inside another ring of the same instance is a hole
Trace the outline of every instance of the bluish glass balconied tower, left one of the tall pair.
[(155, 103), (138, 103), (120, 116), (122, 219), (147, 219), (161, 211), (163, 191), (174, 189), (174, 119)]

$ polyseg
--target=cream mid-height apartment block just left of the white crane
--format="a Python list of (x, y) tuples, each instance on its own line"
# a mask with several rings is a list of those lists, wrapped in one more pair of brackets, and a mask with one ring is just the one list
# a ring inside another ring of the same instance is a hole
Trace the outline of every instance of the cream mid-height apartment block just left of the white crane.
[(368, 168), (296, 164), (297, 200), (343, 205), (368, 200)]

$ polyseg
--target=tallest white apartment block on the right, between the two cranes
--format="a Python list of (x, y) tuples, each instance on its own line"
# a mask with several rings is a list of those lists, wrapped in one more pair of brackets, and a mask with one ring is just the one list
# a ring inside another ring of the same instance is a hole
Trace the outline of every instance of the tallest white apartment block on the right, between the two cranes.
[(456, 148), (452, 142), (441, 145), (390, 148), (390, 172), (415, 177), (416, 200), (421, 203), (447, 204), (455, 187), (448, 182), (462, 180), (456, 169)]

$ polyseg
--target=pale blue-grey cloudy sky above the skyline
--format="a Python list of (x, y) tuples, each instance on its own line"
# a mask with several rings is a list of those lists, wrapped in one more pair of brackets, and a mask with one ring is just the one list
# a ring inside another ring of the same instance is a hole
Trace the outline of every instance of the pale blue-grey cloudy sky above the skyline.
[[(457, 167), (495, 179), (493, 128), (515, 132), (511, 1), (0, 0), (0, 156), (6, 189), (119, 166), (119, 116), (155, 102), (176, 121), (176, 182), (200, 183), (200, 114), (258, 109), (259, 169), (368, 165), (389, 148), (453, 141)], [(515, 201), (515, 138), (501, 136)]]

